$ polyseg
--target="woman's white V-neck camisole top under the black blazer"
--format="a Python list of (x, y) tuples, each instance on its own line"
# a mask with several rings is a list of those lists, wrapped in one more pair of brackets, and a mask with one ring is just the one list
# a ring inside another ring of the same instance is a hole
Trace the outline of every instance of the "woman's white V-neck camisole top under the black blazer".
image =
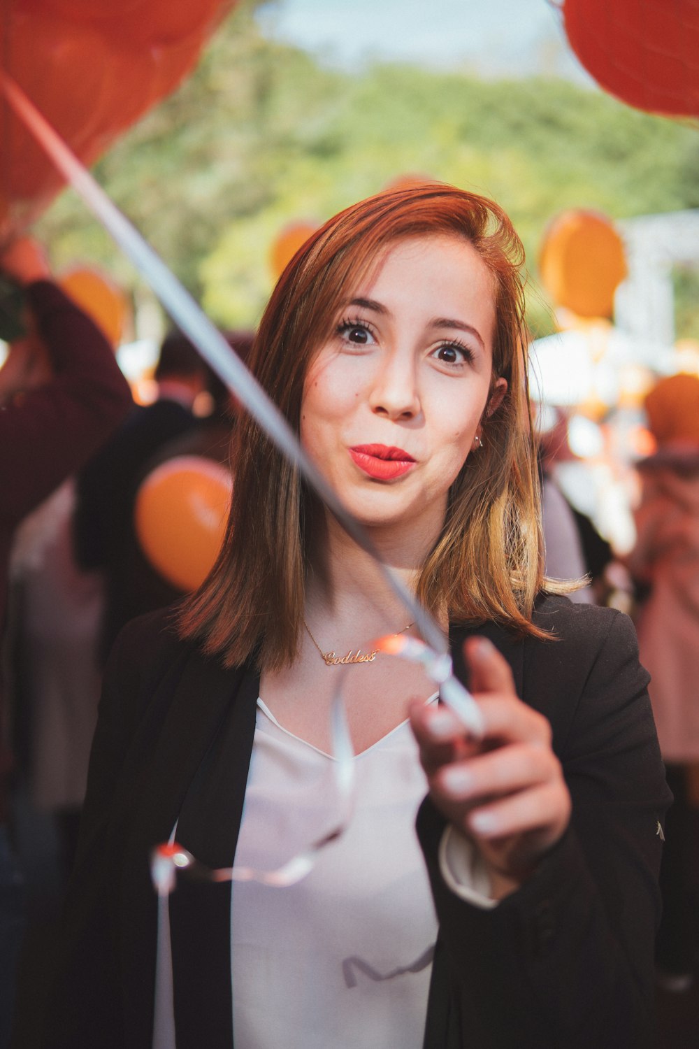
[[(236, 864), (275, 870), (336, 825), (333, 762), (258, 700)], [(437, 919), (415, 833), (425, 782), (409, 724), (354, 763), (351, 822), (306, 878), (233, 883), (236, 1049), (422, 1045)]]

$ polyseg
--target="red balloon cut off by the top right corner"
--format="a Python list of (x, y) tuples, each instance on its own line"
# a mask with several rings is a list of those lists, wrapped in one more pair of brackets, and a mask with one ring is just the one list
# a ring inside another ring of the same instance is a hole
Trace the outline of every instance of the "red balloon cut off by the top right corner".
[(564, 0), (570, 46), (622, 102), (665, 116), (699, 116), (697, 0)]

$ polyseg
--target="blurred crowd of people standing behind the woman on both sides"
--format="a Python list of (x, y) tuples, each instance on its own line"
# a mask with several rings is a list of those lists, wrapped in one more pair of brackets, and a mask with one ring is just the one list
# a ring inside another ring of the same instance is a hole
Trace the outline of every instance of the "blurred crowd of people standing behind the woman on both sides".
[[(160, 347), (153, 399), (135, 404), (114, 347), (52, 281), (42, 249), (20, 240), (1, 262), (25, 293), (25, 331), (9, 344), (0, 369), (7, 595), (3, 812), (10, 829), (2, 848), (4, 884), (13, 886), (3, 894), (2, 991), (9, 1003), (27, 913), (36, 924), (42, 905), (44, 920), (51, 909), (41, 902), (41, 886), (46, 893), (51, 877), (44, 871), (32, 885), (31, 835), (54, 840), (44, 858), (52, 856), (54, 864), (49, 896), (56, 905), (74, 854), (105, 658), (129, 619), (188, 590), (149, 560), (135, 515), (138, 491), (154, 470), (181, 456), (227, 470), (235, 405), (176, 331)], [(252, 334), (234, 333), (230, 341), (244, 358)], [(196, 414), (201, 394), (207, 410)], [(699, 943), (699, 707), (693, 695), (699, 670), (699, 379), (660, 379), (645, 407), (656, 450), (635, 464), (633, 549), (615, 552), (564, 494), (556, 471), (575, 456), (562, 410), (540, 412), (543, 515), (548, 574), (587, 577), (571, 595), (575, 601), (626, 602), (653, 676), (651, 697), (675, 794), (661, 874), (657, 975), (660, 988), (681, 994), (694, 987)], [(44, 815), (31, 829), (39, 813)], [(25, 872), (13, 828), (20, 851), (28, 842)], [(41, 934), (32, 944), (30, 924), (29, 984), (41, 971), (34, 952), (45, 948)], [(3, 1015), (9, 1013), (7, 1005)]]

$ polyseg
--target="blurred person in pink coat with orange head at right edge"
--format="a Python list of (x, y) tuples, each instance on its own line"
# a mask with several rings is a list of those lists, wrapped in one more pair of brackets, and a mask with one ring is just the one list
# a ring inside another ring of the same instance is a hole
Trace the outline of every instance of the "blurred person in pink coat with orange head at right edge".
[(638, 464), (637, 539), (625, 561), (645, 595), (638, 643), (675, 795), (660, 873), (658, 978), (681, 991), (692, 985), (699, 946), (699, 379), (661, 379), (646, 411), (657, 451)]

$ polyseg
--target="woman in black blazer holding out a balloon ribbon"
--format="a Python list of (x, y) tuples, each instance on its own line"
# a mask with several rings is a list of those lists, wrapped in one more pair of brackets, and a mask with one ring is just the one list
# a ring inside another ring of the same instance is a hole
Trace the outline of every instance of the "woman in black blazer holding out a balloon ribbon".
[[(348, 832), (293, 887), (180, 880), (156, 1045), (651, 1037), (667, 790), (630, 624), (545, 594), (521, 261), (496, 205), (430, 184), (331, 219), (272, 294), (253, 370), (449, 633), (485, 734), (413, 664), (351, 666)], [(150, 850), (176, 826), (210, 868), (268, 869), (327, 829), (332, 660), (414, 630), (249, 419), (234, 455), (210, 578), (112, 654), (50, 1045), (150, 1045)]]

